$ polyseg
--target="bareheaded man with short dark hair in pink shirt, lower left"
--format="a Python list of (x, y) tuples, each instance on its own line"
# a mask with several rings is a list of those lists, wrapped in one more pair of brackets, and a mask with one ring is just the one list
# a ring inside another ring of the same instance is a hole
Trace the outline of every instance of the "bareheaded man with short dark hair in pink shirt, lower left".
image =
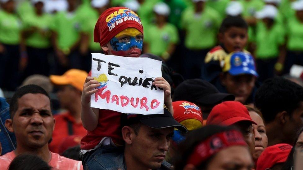
[(32, 153), (57, 169), (83, 169), (80, 161), (65, 158), (48, 150), (55, 119), (47, 92), (37, 85), (26, 85), (11, 98), (10, 116), (5, 126), (16, 135), (17, 148), (0, 157), (0, 169), (7, 169), (16, 155)]

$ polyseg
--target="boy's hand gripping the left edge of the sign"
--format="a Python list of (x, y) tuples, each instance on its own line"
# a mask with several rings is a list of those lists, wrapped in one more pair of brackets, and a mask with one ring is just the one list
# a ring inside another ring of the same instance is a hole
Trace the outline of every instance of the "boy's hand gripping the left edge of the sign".
[(90, 96), (95, 94), (100, 86), (100, 83), (97, 80), (94, 80), (93, 77), (87, 76), (83, 86), (83, 91), (81, 95), (81, 103), (88, 104), (90, 102)]

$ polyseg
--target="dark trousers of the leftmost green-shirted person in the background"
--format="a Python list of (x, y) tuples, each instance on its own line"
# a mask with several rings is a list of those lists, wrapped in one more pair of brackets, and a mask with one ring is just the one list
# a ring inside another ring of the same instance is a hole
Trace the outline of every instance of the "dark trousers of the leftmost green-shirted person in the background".
[(2, 44), (5, 48), (0, 53), (0, 87), (14, 91), (19, 85), (20, 46)]

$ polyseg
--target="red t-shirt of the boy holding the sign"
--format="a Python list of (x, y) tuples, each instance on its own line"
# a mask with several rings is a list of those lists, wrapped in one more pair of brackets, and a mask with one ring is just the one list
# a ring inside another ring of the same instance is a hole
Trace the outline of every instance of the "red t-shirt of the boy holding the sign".
[[(92, 76), (92, 71), (88, 73)], [(99, 109), (99, 120), (97, 128), (88, 131), (81, 140), (81, 149), (89, 150), (97, 146), (104, 137), (111, 137), (116, 145), (124, 145), (122, 138), (122, 113), (112, 110)]]

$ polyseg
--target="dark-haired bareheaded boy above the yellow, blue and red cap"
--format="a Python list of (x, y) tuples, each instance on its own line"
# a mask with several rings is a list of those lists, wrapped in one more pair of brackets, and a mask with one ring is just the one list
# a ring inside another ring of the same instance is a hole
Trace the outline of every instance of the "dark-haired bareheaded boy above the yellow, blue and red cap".
[(244, 50), (248, 39), (248, 25), (241, 17), (229, 16), (222, 21), (219, 29), (220, 45), (211, 49), (205, 58), (202, 73), (206, 81), (214, 84), (222, 72), (220, 62), (231, 52)]

